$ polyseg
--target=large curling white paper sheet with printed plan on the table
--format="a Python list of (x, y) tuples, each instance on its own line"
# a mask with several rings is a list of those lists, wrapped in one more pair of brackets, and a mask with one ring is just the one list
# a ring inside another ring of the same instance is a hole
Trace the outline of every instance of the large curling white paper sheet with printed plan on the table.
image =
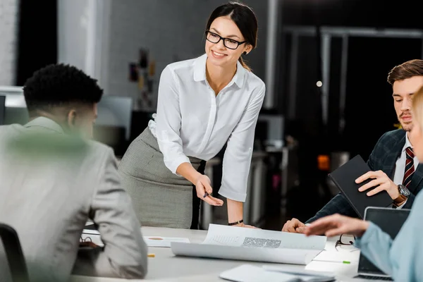
[(308, 264), (324, 250), (326, 237), (210, 224), (201, 244), (172, 242), (173, 254), (283, 264)]

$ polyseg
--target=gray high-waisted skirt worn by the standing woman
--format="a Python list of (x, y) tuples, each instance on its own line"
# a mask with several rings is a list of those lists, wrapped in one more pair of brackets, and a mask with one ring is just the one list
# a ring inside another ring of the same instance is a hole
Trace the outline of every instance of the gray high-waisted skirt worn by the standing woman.
[[(190, 161), (198, 169), (201, 160), (190, 157)], [(149, 128), (130, 144), (118, 171), (142, 226), (190, 228), (192, 183), (165, 166)]]

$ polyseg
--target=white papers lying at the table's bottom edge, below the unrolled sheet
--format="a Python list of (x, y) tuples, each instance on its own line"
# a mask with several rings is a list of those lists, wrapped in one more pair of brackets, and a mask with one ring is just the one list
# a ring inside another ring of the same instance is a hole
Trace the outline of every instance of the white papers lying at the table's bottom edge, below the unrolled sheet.
[(223, 271), (222, 279), (235, 282), (331, 282), (335, 277), (330, 274), (311, 273), (309, 271), (284, 271), (264, 269), (263, 267), (243, 264)]

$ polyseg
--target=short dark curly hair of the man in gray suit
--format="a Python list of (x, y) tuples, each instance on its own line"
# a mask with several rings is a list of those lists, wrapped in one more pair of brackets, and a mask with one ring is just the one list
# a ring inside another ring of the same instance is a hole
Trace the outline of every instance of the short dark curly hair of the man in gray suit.
[(30, 113), (68, 104), (96, 104), (103, 90), (97, 80), (74, 66), (53, 64), (36, 71), (25, 82), (23, 94)]

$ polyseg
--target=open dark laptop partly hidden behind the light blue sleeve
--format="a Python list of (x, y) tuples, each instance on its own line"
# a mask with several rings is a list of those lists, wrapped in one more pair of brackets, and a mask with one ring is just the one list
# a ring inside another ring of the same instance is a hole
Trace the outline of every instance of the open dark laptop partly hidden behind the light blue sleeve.
[[(388, 233), (392, 239), (396, 238), (400, 232), (403, 223), (410, 214), (410, 209), (391, 209), (380, 207), (368, 207), (364, 214), (364, 220), (372, 221), (379, 226), (382, 231)], [(360, 261), (358, 263), (358, 273), (383, 275), (384, 272), (374, 266), (372, 262), (360, 254)]]

